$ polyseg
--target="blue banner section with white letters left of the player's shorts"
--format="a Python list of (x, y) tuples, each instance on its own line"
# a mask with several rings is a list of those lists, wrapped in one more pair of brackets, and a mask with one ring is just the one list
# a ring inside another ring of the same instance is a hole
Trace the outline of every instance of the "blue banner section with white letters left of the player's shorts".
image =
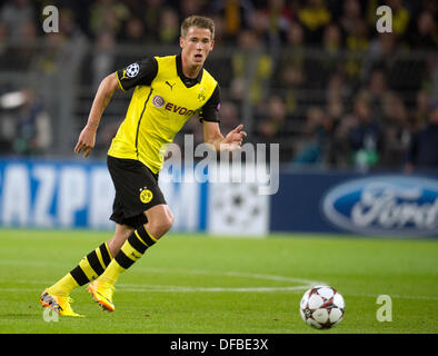
[(108, 228), (113, 197), (104, 164), (0, 160), (2, 226)]

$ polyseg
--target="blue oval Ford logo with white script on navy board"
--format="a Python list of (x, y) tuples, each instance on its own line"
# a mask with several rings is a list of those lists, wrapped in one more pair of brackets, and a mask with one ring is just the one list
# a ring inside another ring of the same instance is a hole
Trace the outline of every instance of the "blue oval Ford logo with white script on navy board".
[(344, 182), (321, 200), (326, 218), (365, 235), (438, 236), (438, 181), (375, 176)]

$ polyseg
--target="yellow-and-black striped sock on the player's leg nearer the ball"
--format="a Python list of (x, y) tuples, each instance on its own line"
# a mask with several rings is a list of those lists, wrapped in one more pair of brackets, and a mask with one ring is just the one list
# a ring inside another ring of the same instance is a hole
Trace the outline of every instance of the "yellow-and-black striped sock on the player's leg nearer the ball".
[(99, 277), (99, 280), (115, 285), (120, 274), (131, 267), (133, 263), (141, 258), (145, 251), (156, 243), (157, 239), (141, 226), (129, 236), (127, 241), (125, 241), (120, 251)]

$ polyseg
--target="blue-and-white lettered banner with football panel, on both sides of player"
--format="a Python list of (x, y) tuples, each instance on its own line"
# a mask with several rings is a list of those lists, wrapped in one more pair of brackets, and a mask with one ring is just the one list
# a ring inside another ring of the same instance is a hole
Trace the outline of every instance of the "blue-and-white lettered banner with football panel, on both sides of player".
[[(192, 167), (160, 172), (172, 231), (266, 236), (269, 197), (257, 185), (193, 177)], [(115, 194), (102, 161), (0, 160), (0, 227), (112, 229)]]

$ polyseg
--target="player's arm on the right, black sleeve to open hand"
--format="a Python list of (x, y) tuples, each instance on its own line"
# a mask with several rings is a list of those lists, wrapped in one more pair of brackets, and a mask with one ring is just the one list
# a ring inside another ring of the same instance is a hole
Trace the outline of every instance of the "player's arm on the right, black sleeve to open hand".
[(223, 136), (219, 127), (220, 88), (216, 87), (213, 93), (202, 107), (200, 120), (202, 121), (203, 141), (216, 151), (240, 149), (247, 132), (242, 131), (243, 125)]

